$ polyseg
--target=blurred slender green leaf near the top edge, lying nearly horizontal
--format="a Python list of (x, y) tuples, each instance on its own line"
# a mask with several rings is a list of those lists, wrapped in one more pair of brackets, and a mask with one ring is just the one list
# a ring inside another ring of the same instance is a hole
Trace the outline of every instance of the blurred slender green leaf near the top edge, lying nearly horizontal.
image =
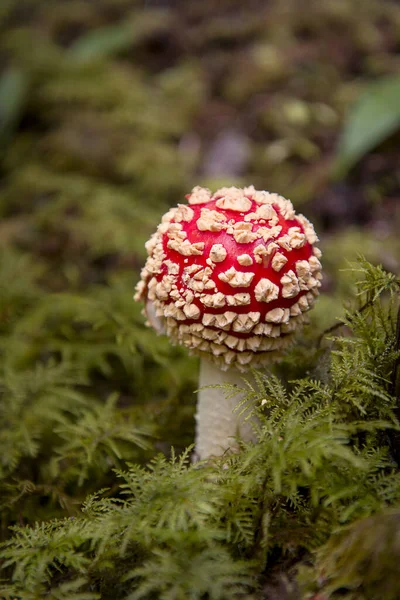
[(126, 25), (101, 27), (81, 36), (69, 49), (68, 56), (83, 63), (114, 56), (132, 44), (132, 30)]

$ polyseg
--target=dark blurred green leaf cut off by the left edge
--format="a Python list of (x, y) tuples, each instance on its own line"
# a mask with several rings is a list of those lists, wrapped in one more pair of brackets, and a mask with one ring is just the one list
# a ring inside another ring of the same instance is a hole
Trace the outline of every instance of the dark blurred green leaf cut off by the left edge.
[(0, 79), (0, 145), (18, 124), (27, 96), (26, 74), (18, 67), (10, 67)]

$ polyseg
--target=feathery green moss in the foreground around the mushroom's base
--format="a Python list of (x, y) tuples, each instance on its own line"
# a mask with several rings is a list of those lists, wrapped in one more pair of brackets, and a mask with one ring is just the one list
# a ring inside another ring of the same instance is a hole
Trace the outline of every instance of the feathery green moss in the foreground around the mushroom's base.
[[(390, 564), (398, 543), (390, 523), (398, 516), (385, 509), (400, 493), (394, 395), (400, 280), (359, 264), (361, 306), (343, 323), (351, 335), (319, 351), (312, 351), (315, 339), (303, 340), (300, 352), (312, 352), (309, 369), (319, 366), (318, 378), (257, 373), (242, 408), (258, 417), (258, 443), (212, 464), (190, 465), (190, 448), (180, 458), (172, 451), (170, 460), (158, 454), (141, 464), (154, 435), (147, 406), (118, 408), (115, 396), (100, 404), (76, 391), (85, 378), (71, 373), (62, 352), (35, 371), (5, 360), (4, 517), (18, 507), (20, 519), (31, 522), (14, 525), (3, 544), (3, 568), (12, 568), (5, 597), (115, 598), (116, 590), (121, 598), (259, 597), (275, 568), (305, 562), (305, 589), (316, 582), (333, 591), (358, 584), (352, 597), (361, 600), (383, 586), (384, 597), (396, 598)], [(29, 467), (36, 481), (21, 478)], [(113, 480), (111, 489), (98, 489)], [(78, 512), (83, 486), (97, 491)], [(49, 520), (51, 505), (71, 516)], [(377, 513), (383, 525), (377, 534), (368, 528), (372, 540), (355, 552), (357, 539), (367, 535), (358, 519)], [(350, 534), (337, 533), (354, 522)], [(374, 571), (364, 580), (368, 562)], [(322, 578), (315, 576), (319, 569)]]

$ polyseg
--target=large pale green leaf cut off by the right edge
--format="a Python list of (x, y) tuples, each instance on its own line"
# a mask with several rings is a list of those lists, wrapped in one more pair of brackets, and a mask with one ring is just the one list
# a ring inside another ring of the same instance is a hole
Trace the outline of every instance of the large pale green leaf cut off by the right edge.
[(367, 152), (400, 127), (400, 76), (391, 75), (369, 84), (344, 126), (334, 163), (343, 177)]

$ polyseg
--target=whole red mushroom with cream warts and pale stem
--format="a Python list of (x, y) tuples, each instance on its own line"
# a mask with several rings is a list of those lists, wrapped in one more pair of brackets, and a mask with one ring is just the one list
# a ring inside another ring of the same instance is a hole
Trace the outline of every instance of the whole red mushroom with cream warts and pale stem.
[(147, 242), (135, 300), (145, 301), (150, 325), (201, 357), (204, 459), (252, 437), (233, 412), (238, 400), (204, 386), (240, 384), (240, 372), (281, 356), (319, 293), (321, 252), (312, 224), (278, 194), (195, 187), (186, 198)]

